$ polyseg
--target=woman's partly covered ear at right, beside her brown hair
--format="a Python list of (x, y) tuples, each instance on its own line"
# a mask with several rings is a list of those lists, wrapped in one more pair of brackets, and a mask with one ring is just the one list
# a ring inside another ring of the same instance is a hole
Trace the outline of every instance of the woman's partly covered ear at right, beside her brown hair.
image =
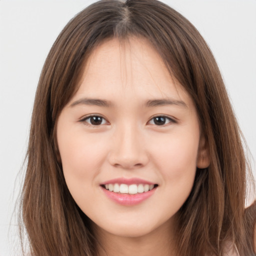
[(205, 139), (204, 135), (200, 136), (196, 167), (199, 169), (207, 168), (210, 164), (210, 153), (209, 153), (209, 144)]

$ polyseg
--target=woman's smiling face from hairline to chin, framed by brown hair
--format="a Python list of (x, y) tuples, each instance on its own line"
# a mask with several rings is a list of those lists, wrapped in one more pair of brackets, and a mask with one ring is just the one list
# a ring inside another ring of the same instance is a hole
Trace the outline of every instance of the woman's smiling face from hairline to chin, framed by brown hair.
[(191, 97), (142, 38), (92, 51), (58, 118), (57, 142), (73, 199), (117, 236), (173, 227), (196, 166), (207, 165)]

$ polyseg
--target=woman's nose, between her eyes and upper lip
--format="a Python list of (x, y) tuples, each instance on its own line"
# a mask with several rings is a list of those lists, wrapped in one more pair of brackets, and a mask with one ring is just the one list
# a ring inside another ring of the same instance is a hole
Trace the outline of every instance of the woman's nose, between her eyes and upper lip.
[(111, 165), (123, 169), (135, 169), (147, 164), (149, 157), (142, 132), (134, 126), (123, 125), (122, 128), (116, 128), (108, 155)]

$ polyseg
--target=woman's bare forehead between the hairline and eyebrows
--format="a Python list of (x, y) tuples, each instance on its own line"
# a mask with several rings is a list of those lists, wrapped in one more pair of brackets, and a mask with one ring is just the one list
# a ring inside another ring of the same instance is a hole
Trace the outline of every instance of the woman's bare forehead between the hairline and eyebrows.
[(152, 97), (191, 99), (170, 75), (151, 43), (142, 37), (111, 38), (97, 45), (86, 60), (75, 97)]

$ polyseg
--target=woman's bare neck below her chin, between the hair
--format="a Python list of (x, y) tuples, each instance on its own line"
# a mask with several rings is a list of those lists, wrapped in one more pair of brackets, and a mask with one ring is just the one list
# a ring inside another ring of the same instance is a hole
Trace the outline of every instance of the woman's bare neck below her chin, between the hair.
[(97, 227), (98, 256), (176, 256), (174, 235), (170, 225), (164, 223), (156, 230), (138, 237), (118, 236)]

